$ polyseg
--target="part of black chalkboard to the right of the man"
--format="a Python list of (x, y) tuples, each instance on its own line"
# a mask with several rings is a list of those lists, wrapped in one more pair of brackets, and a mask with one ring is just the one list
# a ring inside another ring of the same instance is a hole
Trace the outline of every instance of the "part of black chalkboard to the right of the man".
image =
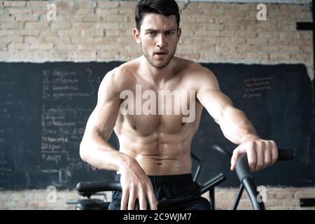
[[(221, 90), (233, 104), (246, 113), (262, 139), (273, 139), (279, 148), (292, 148), (295, 159), (277, 162), (254, 176), (267, 186), (314, 186), (313, 90), (302, 64), (245, 65), (203, 64), (216, 74)], [(193, 150), (204, 165), (201, 181), (218, 172), (227, 176), (222, 186), (237, 186), (230, 172), (230, 160), (211, 149), (213, 144), (234, 149), (206, 110), (202, 112), (200, 132)]]

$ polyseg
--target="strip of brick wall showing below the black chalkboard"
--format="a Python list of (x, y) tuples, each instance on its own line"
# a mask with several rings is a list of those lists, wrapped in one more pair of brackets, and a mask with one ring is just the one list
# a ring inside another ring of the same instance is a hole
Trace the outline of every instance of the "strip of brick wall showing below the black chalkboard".
[[(237, 195), (236, 188), (216, 188), (216, 209), (231, 209)], [(0, 209), (74, 209), (75, 205), (66, 204), (67, 200), (82, 199), (74, 190), (57, 190), (55, 202), (48, 202), (46, 190), (6, 190), (0, 191)], [(207, 197), (207, 193), (204, 194)], [(266, 209), (315, 209), (300, 207), (300, 198), (315, 197), (314, 188), (271, 188), (267, 187)], [(104, 199), (103, 196), (93, 198)], [(111, 193), (106, 194), (111, 200)], [(243, 193), (238, 209), (251, 210), (251, 202)]]

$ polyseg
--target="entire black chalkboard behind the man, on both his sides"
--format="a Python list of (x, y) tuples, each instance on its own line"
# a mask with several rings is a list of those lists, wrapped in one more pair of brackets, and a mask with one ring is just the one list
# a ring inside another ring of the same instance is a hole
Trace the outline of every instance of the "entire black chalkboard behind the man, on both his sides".
[[(79, 144), (97, 90), (107, 71), (123, 62), (0, 63), (0, 188), (74, 188), (78, 181), (111, 180), (80, 160)], [(260, 137), (293, 148), (292, 162), (258, 174), (258, 183), (313, 186), (314, 118), (311, 81), (302, 64), (203, 64), (221, 90), (243, 110)], [(118, 148), (112, 134), (110, 143)], [(202, 112), (192, 150), (202, 159), (200, 182), (224, 172), (223, 186), (236, 186), (230, 162), (211, 149), (235, 147)]]

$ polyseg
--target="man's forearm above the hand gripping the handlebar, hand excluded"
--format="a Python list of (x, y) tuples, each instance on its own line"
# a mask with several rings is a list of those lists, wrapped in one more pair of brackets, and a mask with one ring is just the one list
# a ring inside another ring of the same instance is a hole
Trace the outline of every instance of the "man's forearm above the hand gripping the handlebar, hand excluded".
[(260, 139), (251, 122), (243, 111), (230, 107), (225, 110), (220, 127), (224, 136), (234, 144), (242, 144), (245, 141)]

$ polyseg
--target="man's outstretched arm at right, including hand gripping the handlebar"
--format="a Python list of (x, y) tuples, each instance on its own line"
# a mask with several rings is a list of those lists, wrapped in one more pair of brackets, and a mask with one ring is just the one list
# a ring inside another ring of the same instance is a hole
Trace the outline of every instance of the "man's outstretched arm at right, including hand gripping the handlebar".
[(201, 67), (197, 76), (196, 80), (200, 83), (197, 87), (197, 99), (220, 125), (224, 136), (239, 145), (233, 151), (231, 169), (235, 169), (235, 163), (243, 153), (247, 153), (248, 165), (252, 172), (276, 162), (278, 150), (274, 141), (258, 137), (244, 112), (236, 109), (230, 98), (221, 92), (214, 73)]

